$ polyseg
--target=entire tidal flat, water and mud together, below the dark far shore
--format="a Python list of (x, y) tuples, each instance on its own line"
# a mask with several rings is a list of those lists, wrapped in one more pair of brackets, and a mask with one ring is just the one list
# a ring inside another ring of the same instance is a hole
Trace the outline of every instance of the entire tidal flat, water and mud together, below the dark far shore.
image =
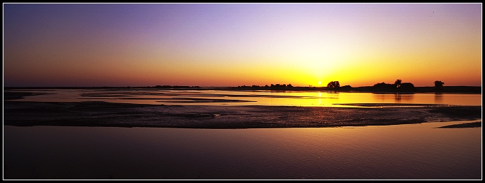
[(482, 177), (481, 96), (219, 92), (4, 92), (4, 179)]

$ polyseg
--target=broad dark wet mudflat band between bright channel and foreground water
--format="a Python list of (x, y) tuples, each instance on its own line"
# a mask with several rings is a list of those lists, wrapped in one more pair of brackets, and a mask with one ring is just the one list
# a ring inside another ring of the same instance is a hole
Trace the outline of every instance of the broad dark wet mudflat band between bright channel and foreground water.
[(480, 106), (282, 107), (25, 102), (5, 100), (11, 126), (308, 128), (419, 124), (481, 119)]

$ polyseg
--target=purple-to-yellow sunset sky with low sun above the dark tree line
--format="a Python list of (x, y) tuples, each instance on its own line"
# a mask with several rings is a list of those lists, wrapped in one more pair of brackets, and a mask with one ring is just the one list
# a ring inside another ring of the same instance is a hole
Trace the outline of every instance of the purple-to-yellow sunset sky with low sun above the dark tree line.
[(396, 79), (481, 86), (482, 3), (3, 3), (4, 87)]

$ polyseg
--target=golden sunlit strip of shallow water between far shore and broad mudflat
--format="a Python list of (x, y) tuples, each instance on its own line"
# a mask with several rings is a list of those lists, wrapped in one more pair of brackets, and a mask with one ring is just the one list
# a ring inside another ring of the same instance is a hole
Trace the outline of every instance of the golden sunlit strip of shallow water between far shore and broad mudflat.
[[(23, 101), (105, 101), (167, 105), (277, 105), (349, 107), (354, 103), (482, 105), (481, 94), (374, 94), (360, 92), (269, 92), (166, 89), (14, 89), (8, 92), (38, 92)], [(354, 106), (355, 107), (355, 106)]]

